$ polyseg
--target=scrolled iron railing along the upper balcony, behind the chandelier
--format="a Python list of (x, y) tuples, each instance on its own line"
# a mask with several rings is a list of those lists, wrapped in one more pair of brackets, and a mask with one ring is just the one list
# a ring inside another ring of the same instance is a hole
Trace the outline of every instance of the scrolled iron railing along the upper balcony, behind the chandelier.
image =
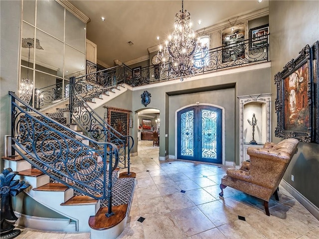
[[(269, 35), (264, 36), (262, 45), (253, 48), (257, 41), (260, 43), (260, 39), (254, 38), (213, 49), (203, 49), (195, 55), (193, 75), (269, 61)], [(143, 67), (141, 74), (132, 74), (126, 83), (134, 87), (175, 79), (169, 75), (169, 68), (169, 63)]]

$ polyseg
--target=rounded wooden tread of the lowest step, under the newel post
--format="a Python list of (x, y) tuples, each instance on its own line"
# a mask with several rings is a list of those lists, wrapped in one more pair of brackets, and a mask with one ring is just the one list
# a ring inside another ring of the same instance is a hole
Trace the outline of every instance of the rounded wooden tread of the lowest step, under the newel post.
[(100, 208), (95, 216), (89, 218), (89, 226), (94, 230), (106, 230), (113, 228), (123, 221), (127, 214), (128, 205), (112, 206), (112, 212), (114, 215), (111, 217), (106, 217), (105, 214), (108, 212), (108, 208)]

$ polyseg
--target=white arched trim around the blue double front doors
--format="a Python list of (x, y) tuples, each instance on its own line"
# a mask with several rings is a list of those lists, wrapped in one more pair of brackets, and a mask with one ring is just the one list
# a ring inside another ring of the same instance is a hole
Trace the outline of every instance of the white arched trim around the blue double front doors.
[(221, 144), (222, 144), (222, 164), (225, 164), (225, 108), (213, 104), (205, 104), (205, 103), (200, 103), (200, 104), (190, 104), (184, 107), (181, 107), (175, 111), (175, 159), (177, 159), (177, 113), (183, 109), (186, 109), (188, 107), (192, 106), (212, 106), (215, 108), (218, 108), (221, 110), (221, 115), (222, 115), (222, 132), (221, 132)]

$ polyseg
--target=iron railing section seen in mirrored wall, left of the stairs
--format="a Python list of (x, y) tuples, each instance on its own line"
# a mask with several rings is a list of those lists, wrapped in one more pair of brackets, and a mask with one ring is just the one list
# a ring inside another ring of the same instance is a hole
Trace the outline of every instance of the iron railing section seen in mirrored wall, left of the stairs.
[(54, 102), (62, 101), (69, 97), (69, 84), (65, 84), (63, 87), (63, 82), (34, 90), (34, 108), (37, 110), (48, 107)]

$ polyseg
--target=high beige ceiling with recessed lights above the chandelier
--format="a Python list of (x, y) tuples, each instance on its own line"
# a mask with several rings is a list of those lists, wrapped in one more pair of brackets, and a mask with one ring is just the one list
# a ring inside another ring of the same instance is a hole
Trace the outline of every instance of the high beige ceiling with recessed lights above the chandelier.
[[(172, 32), (175, 14), (181, 10), (181, 0), (70, 0), (91, 18), (87, 38), (97, 44), (98, 60), (113, 66), (144, 57), (148, 48), (162, 43)], [(268, 7), (268, 0), (185, 0), (184, 9), (190, 12), (193, 29), (229, 20), (245, 13)], [(101, 17), (105, 17), (105, 21)], [(201, 20), (200, 25), (197, 24)], [(160, 40), (157, 40), (160, 36)], [(134, 44), (129, 45), (127, 42)]]

